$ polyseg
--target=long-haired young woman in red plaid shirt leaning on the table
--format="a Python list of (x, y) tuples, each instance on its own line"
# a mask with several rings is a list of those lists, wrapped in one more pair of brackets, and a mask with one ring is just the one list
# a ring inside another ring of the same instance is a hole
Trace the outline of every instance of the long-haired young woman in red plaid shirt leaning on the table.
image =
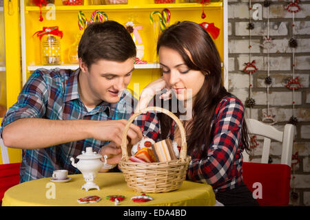
[[(192, 156), (187, 178), (211, 184), (216, 200), (225, 206), (257, 206), (242, 182), (241, 153), (248, 149), (245, 108), (223, 87), (220, 56), (211, 37), (197, 23), (179, 22), (161, 34), (157, 53), (163, 76), (143, 89), (137, 108), (147, 107), (155, 96), (151, 104), (177, 109), (172, 112), (179, 118), (187, 115), (183, 124)], [(144, 135), (155, 141), (169, 137), (180, 145), (178, 127), (169, 116), (149, 112), (141, 117), (136, 123)]]

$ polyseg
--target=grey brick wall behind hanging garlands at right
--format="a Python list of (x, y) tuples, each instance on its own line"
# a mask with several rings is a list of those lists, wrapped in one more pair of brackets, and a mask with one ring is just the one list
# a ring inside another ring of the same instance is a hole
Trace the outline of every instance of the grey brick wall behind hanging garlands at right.
[[(288, 0), (287, 0), (288, 1)], [(284, 87), (285, 79), (292, 76), (293, 56), (288, 41), (292, 34), (292, 14), (284, 10), (284, 0), (273, 0), (269, 6), (269, 34), (275, 47), (269, 50), (270, 76), (273, 79), (269, 87), (269, 107), (277, 121), (274, 126), (283, 131), (292, 115), (292, 91)], [(263, 3), (252, 0), (251, 4)], [(293, 153), (298, 151), (300, 163), (295, 168), (295, 186), (298, 199), (291, 199), (293, 206), (310, 206), (310, 1), (301, 0), (302, 10), (295, 14), (295, 76), (299, 76), (302, 88), (295, 91), (295, 113), (298, 124), (295, 127)], [(242, 72), (244, 63), (249, 62), (249, 0), (228, 0), (229, 18), (229, 91), (245, 103), (249, 96), (249, 74)], [(251, 30), (251, 56), (256, 61), (258, 71), (252, 74), (252, 98), (256, 106), (251, 110), (251, 118), (262, 120), (262, 113), (267, 111), (267, 50), (260, 47), (262, 36), (267, 36), (267, 8), (262, 6), (262, 20), (254, 21)], [(249, 109), (247, 109), (249, 117)], [(258, 139), (255, 155), (260, 155), (262, 142)], [(271, 143), (273, 163), (280, 162), (281, 145)], [(258, 159), (257, 159), (258, 160)], [(255, 159), (253, 160), (255, 162)], [(293, 172), (292, 172), (293, 176)]]

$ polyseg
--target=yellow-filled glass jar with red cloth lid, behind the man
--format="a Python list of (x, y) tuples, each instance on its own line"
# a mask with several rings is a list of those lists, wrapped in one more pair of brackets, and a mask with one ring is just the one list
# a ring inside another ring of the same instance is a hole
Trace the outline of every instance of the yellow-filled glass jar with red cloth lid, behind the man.
[(43, 65), (61, 65), (61, 39), (63, 32), (58, 27), (44, 27), (36, 32), (41, 41), (41, 62)]

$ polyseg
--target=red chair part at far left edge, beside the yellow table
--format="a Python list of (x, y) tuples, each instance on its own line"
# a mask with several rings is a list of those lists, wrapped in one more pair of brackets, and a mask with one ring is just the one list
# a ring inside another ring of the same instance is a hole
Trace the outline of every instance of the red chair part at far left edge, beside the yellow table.
[(8, 188), (19, 184), (19, 170), (21, 163), (16, 164), (1, 164), (0, 165), (0, 206), (4, 192)]

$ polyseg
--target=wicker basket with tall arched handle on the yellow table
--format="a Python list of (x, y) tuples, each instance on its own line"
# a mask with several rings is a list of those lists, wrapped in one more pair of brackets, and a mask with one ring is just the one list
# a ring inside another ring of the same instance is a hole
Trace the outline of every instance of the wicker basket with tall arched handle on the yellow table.
[[(176, 121), (181, 134), (180, 158), (169, 162), (138, 163), (130, 161), (127, 151), (127, 131), (134, 119), (147, 111), (159, 111)], [(136, 192), (169, 192), (182, 186), (191, 157), (187, 156), (185, 129), (172, 112), (160, 107), (147, 107), (134, 113), (128, 120), (122, 137), (122, 159), (119, 163), (127, 181), (127, 186)]]

